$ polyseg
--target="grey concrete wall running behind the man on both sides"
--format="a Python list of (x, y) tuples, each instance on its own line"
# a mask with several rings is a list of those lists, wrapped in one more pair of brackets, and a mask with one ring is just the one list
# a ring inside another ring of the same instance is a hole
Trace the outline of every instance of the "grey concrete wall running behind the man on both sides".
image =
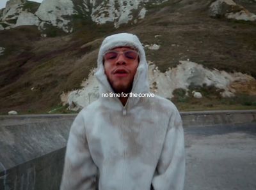
[[(256, 110), (180, 112), (184, 128), (256, 122)], [(59, 189), (76, 114), (0, 116), (0, 189)]]

